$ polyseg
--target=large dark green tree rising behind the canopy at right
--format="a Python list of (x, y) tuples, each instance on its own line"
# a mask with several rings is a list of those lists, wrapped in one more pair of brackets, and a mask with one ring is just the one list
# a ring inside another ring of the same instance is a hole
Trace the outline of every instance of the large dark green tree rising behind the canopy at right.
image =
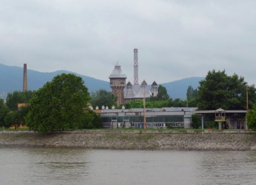
[[(204, 110), (218, 108), (246, 109), (246, 87), (243, 77), (228, 76), (224, 71), (209, 71), (198, 87), (198, 106)], [(249, 107), (255, 104), (255, 87), (248, 86)]]

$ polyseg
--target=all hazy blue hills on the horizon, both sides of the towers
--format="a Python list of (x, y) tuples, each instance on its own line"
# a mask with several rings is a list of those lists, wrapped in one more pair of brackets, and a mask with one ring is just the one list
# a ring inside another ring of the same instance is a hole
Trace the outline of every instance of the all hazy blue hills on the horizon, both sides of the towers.
[[(99, 89), (106, 89), (111, 91), (109, 82), (99, 80), (84, 75), (79, 75), (72, 71), (54, 71), (49, 73), (43, 73), (39, 71), (28, 69), (28, 90), (37, 90), (42, 87), (46, 82), (50, 82), (53, 77), (61, 73), (73, 73), (84, 80), (84, 85), (88, 87), (88, 91), (98, 91)], [(203, 77), (191, 77), (177, 80), (174, 82), (164, 83), (164, 87), (171, 98), (186, 99), (186, 92), (188, 86), (191, 85), (194, 89), (198, 87), (198, 82), (204, 79)], [(6, 98), (6, 94), (13, 91), (22, 91), (23, 85), (23, 68), (17, 66), (6, 66), (0, 64), (0, 98)]]

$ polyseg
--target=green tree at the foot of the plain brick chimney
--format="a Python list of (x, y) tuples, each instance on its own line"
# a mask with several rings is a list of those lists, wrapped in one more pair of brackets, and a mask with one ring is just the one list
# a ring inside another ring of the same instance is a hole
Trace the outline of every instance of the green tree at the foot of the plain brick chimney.
[(6, 98), (6, 105), (10, 110), (18, 110), (18, 103), (28, 103), (33, 95), (33, 91), (14, 91), (13, 93), (8, 93)]

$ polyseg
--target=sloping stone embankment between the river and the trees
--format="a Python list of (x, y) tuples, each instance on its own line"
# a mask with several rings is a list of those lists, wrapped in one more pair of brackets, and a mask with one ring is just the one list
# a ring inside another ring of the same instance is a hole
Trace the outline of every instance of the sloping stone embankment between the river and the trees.
[(256, 150), (256, 132), (86, 130), (42, 135), (0, 131), (0, 147), (250, 151)]

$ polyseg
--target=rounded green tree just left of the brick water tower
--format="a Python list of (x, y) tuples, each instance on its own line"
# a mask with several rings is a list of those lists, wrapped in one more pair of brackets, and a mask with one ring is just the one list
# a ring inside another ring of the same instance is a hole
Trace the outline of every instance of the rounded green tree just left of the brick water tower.
[(111, 92), (108, 92), (104, 89), (92, 92), (91, 97), (91, 104), (94, 108), (96, 106), (101, 107), (102, 105), (104, 105), (105, 107), (108, 106), (110, 108), (115, 105), (116, 102), (116, 97)]

